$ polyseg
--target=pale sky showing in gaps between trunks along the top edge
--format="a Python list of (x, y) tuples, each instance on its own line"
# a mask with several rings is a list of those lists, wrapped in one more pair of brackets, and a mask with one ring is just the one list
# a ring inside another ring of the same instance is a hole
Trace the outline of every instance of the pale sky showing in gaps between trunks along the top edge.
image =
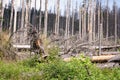
[[(4, 5), (5, 4), (8, 4), (11, 0), (3, 0), (4, 1)], [(39, 6), (40, 6), (40, 3), (39, 1), (40, 0), (36, 0), (37, 1), (37, 9), (39, 9)], [(57, 0), (48, 0), (48, 9), (52, 10), (52, 12), (54, 11), (54, 4), (56, 3)], [(75, 8), (76, 7), (76, 1), (77, 1), (77, 4), (81, 4), (81, 2), (83, 0), (71, 0), (72, 1), (72, 6)], [(120, 0), (116, 0), (117, 1), (117, 5), (119, 6), (120, 5)], [(65, 5), (67, 3), (67, 0), (60, 0), (60, 9), (62, 10), (62, 12), (64, 11), (65, 9)], [(20, 5), (22, 4), (22, 0), (15, 0), (15, 8), (18, 9), (20, 7)], [(34, 7), (34, 4), (35, 4), (35, 0), (32, 0), (32, 7)], [(45, 0), (42, 0), (42, 10), (44, 10), (45, 6)], [(102, 5), (106, 5), (106, 0), (102, 0)], [(109, 6), (112, 8), (112, 5), (113, 5), (113, 0), (109, 0)]]

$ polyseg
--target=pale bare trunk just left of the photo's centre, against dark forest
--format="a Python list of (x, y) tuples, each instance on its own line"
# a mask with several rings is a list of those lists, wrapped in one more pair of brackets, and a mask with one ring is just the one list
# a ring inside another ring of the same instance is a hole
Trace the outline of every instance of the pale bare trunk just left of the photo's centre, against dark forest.
[(59, 35), (59, 14), (60, 14), (60, 9), (59, 9), (59, 6), (60, 6), (60, 0), (57, 0), (56, 2), (56, 20), (55, 20), (55, 33), (57, 35)]

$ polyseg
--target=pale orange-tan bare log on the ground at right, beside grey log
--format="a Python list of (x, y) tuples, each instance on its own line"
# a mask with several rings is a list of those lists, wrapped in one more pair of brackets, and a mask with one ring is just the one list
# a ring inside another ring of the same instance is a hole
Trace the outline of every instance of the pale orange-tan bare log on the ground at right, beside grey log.
[(115, 55), (101, 55), (91, 57), (92, 62), (107, 62), (109, 59), (115, 57)]

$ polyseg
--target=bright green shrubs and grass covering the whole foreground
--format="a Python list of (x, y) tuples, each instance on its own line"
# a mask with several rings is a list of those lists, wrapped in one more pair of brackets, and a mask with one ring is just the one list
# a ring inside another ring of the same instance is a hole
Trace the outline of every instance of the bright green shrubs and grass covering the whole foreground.
[(58, 58), (58, 48), (49, 49), (50, 56), (21, 62), (0, 61), (0, 80), (120, 80), (120, 69), (99, 69), (81, 55), (65, 62)]

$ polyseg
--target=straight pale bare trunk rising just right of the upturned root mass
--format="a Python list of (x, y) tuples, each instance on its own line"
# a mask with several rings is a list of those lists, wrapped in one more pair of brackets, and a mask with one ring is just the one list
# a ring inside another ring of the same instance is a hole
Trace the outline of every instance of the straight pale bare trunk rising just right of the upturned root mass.
[(47, 19), (48, 19), (48, 0), (45, 0), (45, 19), (44, 19), (44, 36), (47, 37)]

